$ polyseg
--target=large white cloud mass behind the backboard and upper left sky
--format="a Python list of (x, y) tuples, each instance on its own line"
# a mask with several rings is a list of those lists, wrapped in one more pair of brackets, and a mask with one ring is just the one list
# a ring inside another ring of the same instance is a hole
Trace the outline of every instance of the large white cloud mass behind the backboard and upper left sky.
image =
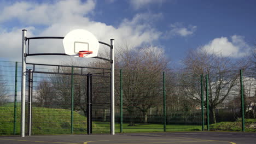
[[(118, 27), (113, 27), (103, 22), (92, 21), (89, 18), (88, 14), (94, 13), (95, 5), (95, 1), (91, 0), (86, 2), (66, 0), (43, 4), (16, 2), (4, 8), (3, 13), (0, 14), (0, 24), (12, 19), (23, 24), (26, 23), (28, 37), (64, 37), (73, 29), (86, 29), (100, 41), (109, 43), (109, 39), (114, 38), (116, 44), (131, 43), (133, 47), (152, 44), (161, 35), (161, 32), (150, 24), (156, 18), (161, 18), (161, 14), (137, 14), (131, 20), (124, 19)], [(43, 25), (44, 28), (38, 28), (38, 25)], [(20, 61), (21, 29), (24, 29), (24, 26), (11, 30), (5, 28), (0, 31), (0, 57), (8, 57), (9, 61)], [(30, 43), (31, 52), (64, 52), (61, 41), (31, 40)], [(100, 50), (102, 49), (103, 47), (100, 47)], [(69, 59), (63, 56), (45, 57), (31, 56), (27, 60), (34, 63), (45, 63), (45, 61), (53, 63)]]

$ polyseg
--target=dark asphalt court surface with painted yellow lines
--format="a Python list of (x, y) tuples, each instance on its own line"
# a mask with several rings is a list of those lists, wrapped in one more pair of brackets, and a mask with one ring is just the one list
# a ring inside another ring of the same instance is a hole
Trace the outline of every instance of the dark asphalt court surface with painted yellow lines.
[(178, 132), (178, 133), (126, 133), (92, 135), (38, 135), (26, 137), (1, 136), (1, 144), (253, 144), (256, 133), (236, 132)]

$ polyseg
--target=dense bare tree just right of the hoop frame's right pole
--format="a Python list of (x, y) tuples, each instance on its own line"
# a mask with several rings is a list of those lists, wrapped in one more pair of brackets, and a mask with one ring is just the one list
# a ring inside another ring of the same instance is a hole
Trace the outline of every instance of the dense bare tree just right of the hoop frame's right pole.
[(161, 100), (162, 71), (167, 70), (168, 61), (161, 49), (145, 47), (131, 49), (123, 47), (119, 53), (117, 67), (123, 69), (123, 109), (129, 113), (130, 125), (141, 112), (144, 123), (148, 122), (148, 110)]

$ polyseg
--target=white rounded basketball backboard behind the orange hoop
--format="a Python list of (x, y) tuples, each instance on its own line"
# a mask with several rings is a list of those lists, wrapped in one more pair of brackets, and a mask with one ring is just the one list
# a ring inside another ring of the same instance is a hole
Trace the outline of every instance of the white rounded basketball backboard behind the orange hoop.
[(65, 53), (69, 56), (78, 57), (79, 51), (92, 51), (90, 55), (84, 55), (84, 57), (96, 57), (100, 44), (89, 31), (75, 29), (66, 34), (63, 39), (63, 46)]

